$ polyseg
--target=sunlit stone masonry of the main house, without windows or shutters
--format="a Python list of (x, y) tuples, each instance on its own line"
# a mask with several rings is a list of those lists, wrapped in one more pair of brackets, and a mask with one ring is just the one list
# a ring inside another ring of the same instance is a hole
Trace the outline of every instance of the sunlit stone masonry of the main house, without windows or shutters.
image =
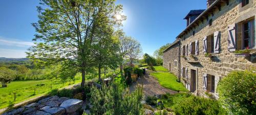
[[(255, 22), (255, 12), (256, 12), (256, 1), (250, 0), (250, 3), (241, 7), (241, 1), (230, 0), (229, 5), (226, 5), (225, 2), (221, 4), (221, 10), (215, 9), (213, 11), (213, 15), (208, 16), (208, 20), (212, 19), (212, 25), (208, 25), (208, 21), (204, 18), (200, 24), (195, 27), (193, 30), (190, 30), (183, 37), (185, 40), (181, 41), (181, 48), (183, 45), (186, 45), (190, 42), (194, 42), (196, 40), (199, 41), (198, 50), (199, 54), (195, 55), (195, 57), (188, 56), (181, 58), (181, 67), (187, 67), (188, 73), (187, 79), (183, 79), (183, 83), (191, 85), (190, 81), (190, 70), (196, 70), (196, 89), (197, 94), (200, 96), (205, 96), (205, 89), (203, 88), (203, 75), (209, 74), (215, 76), (215, 93), (212, 93), (216, 98), (218, 98), (218, 93), (216, 92), (216, 88), (218, 82), (221, 78), (225, 77), (228, 73), (234, 70), (251, 70), (256, 67), (255, 61), (255, 52), (251, 54), (251, 57), (236, 57), (233, 52), (228, 51), (228, 26), (232, 24), (239, 25), (240, 22), (248, 19), (254, 18)], [(255, 28), (255, 27), (254, 27)], [(237, 28), (238, 30), (239, 28)], [(195, 35), (193, 36), (193, 31), (195, 31)], [(214, 34), (216, 31), (220, 32), (220, 53), (215, 54), (213, 58), (205, 57), (205, 53), (203, 52), (203, 38), (205, 36), (209, 36)], [(255, 30), (254, 32), (255, 33)], [(255, 35), (255, 34), (254, 34)], [(182, 37), (182, 38), (183, 38)], [(254, 36), (255, 37), (255, 36)], [(237, 35), (237, 39), (239, 35)], [(189, 48), (189, 47), (188, 47)], [(256, 48), (253, 48), (256, 49)], [(252, 50), (253, 50), (252, 49)], [(172, 49), (170, 49), (172, 51)], [(182, 50), (181, 50), (182, 51)], [(188, 50), (189, 51), (189, 50)], [(166, 61), (174, 60), (177, 56), (168, 56), (168, 52), (165, 52), (164, 59)], [(182, 55), (182, 53), (181, 53)], [(166, 56), (166, 57), (165, 57)], [(170, 58), (170, 59), (166, 59)], [(165, 63), (166, 64), (166, 63)], [(168, 67), (164, 65), (164, 67)]]

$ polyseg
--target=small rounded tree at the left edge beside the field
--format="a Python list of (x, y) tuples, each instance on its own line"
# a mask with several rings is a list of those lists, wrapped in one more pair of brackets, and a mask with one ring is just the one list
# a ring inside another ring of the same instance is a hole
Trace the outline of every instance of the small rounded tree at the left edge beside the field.
[(15, 78), (15, 71), (6, 68), (0, 67), (0, 82), (2, 87), (7, 87), (7, 83), (11, 82)]

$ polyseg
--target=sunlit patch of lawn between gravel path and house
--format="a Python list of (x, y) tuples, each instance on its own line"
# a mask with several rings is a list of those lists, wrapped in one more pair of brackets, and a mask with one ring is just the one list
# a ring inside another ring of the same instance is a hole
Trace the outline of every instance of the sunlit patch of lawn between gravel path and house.
[(161, 86), (176, 91), (188, 91), (182, 83), (176, 81), (177, 77), (174, 74), (168, 73), (162, 66), (154, 67), (156, 68), (156, 72), (151, 73), (151, 75), (158, 79)]

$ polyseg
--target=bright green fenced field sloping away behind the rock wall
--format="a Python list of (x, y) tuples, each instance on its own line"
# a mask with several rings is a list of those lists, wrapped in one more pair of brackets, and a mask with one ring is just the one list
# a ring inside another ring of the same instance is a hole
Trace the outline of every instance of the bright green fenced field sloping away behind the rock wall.
[(15, 104), (48, 93), (51, 90), (51, 85), (52, 89), (55, 89), (79, 82), (81, 82), (81, 77), (76, 77), (75, 82), (71, 81), (64, 84), (48, 79), (12, 81), (7, 84), (8, 87), (0, 88), (0, 108), (7, 107), (10, 102), (14, 101), (14, 93), (16, 93), (16, 101), (13, 102)]

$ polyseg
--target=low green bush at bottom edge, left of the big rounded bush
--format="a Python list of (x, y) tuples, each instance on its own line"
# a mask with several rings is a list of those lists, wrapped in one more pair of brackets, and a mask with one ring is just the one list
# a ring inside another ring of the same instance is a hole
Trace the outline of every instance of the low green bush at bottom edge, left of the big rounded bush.
[(192, 96), (174, 106), (174, 112), (179, 114), (226, 114), (216, 100)]

